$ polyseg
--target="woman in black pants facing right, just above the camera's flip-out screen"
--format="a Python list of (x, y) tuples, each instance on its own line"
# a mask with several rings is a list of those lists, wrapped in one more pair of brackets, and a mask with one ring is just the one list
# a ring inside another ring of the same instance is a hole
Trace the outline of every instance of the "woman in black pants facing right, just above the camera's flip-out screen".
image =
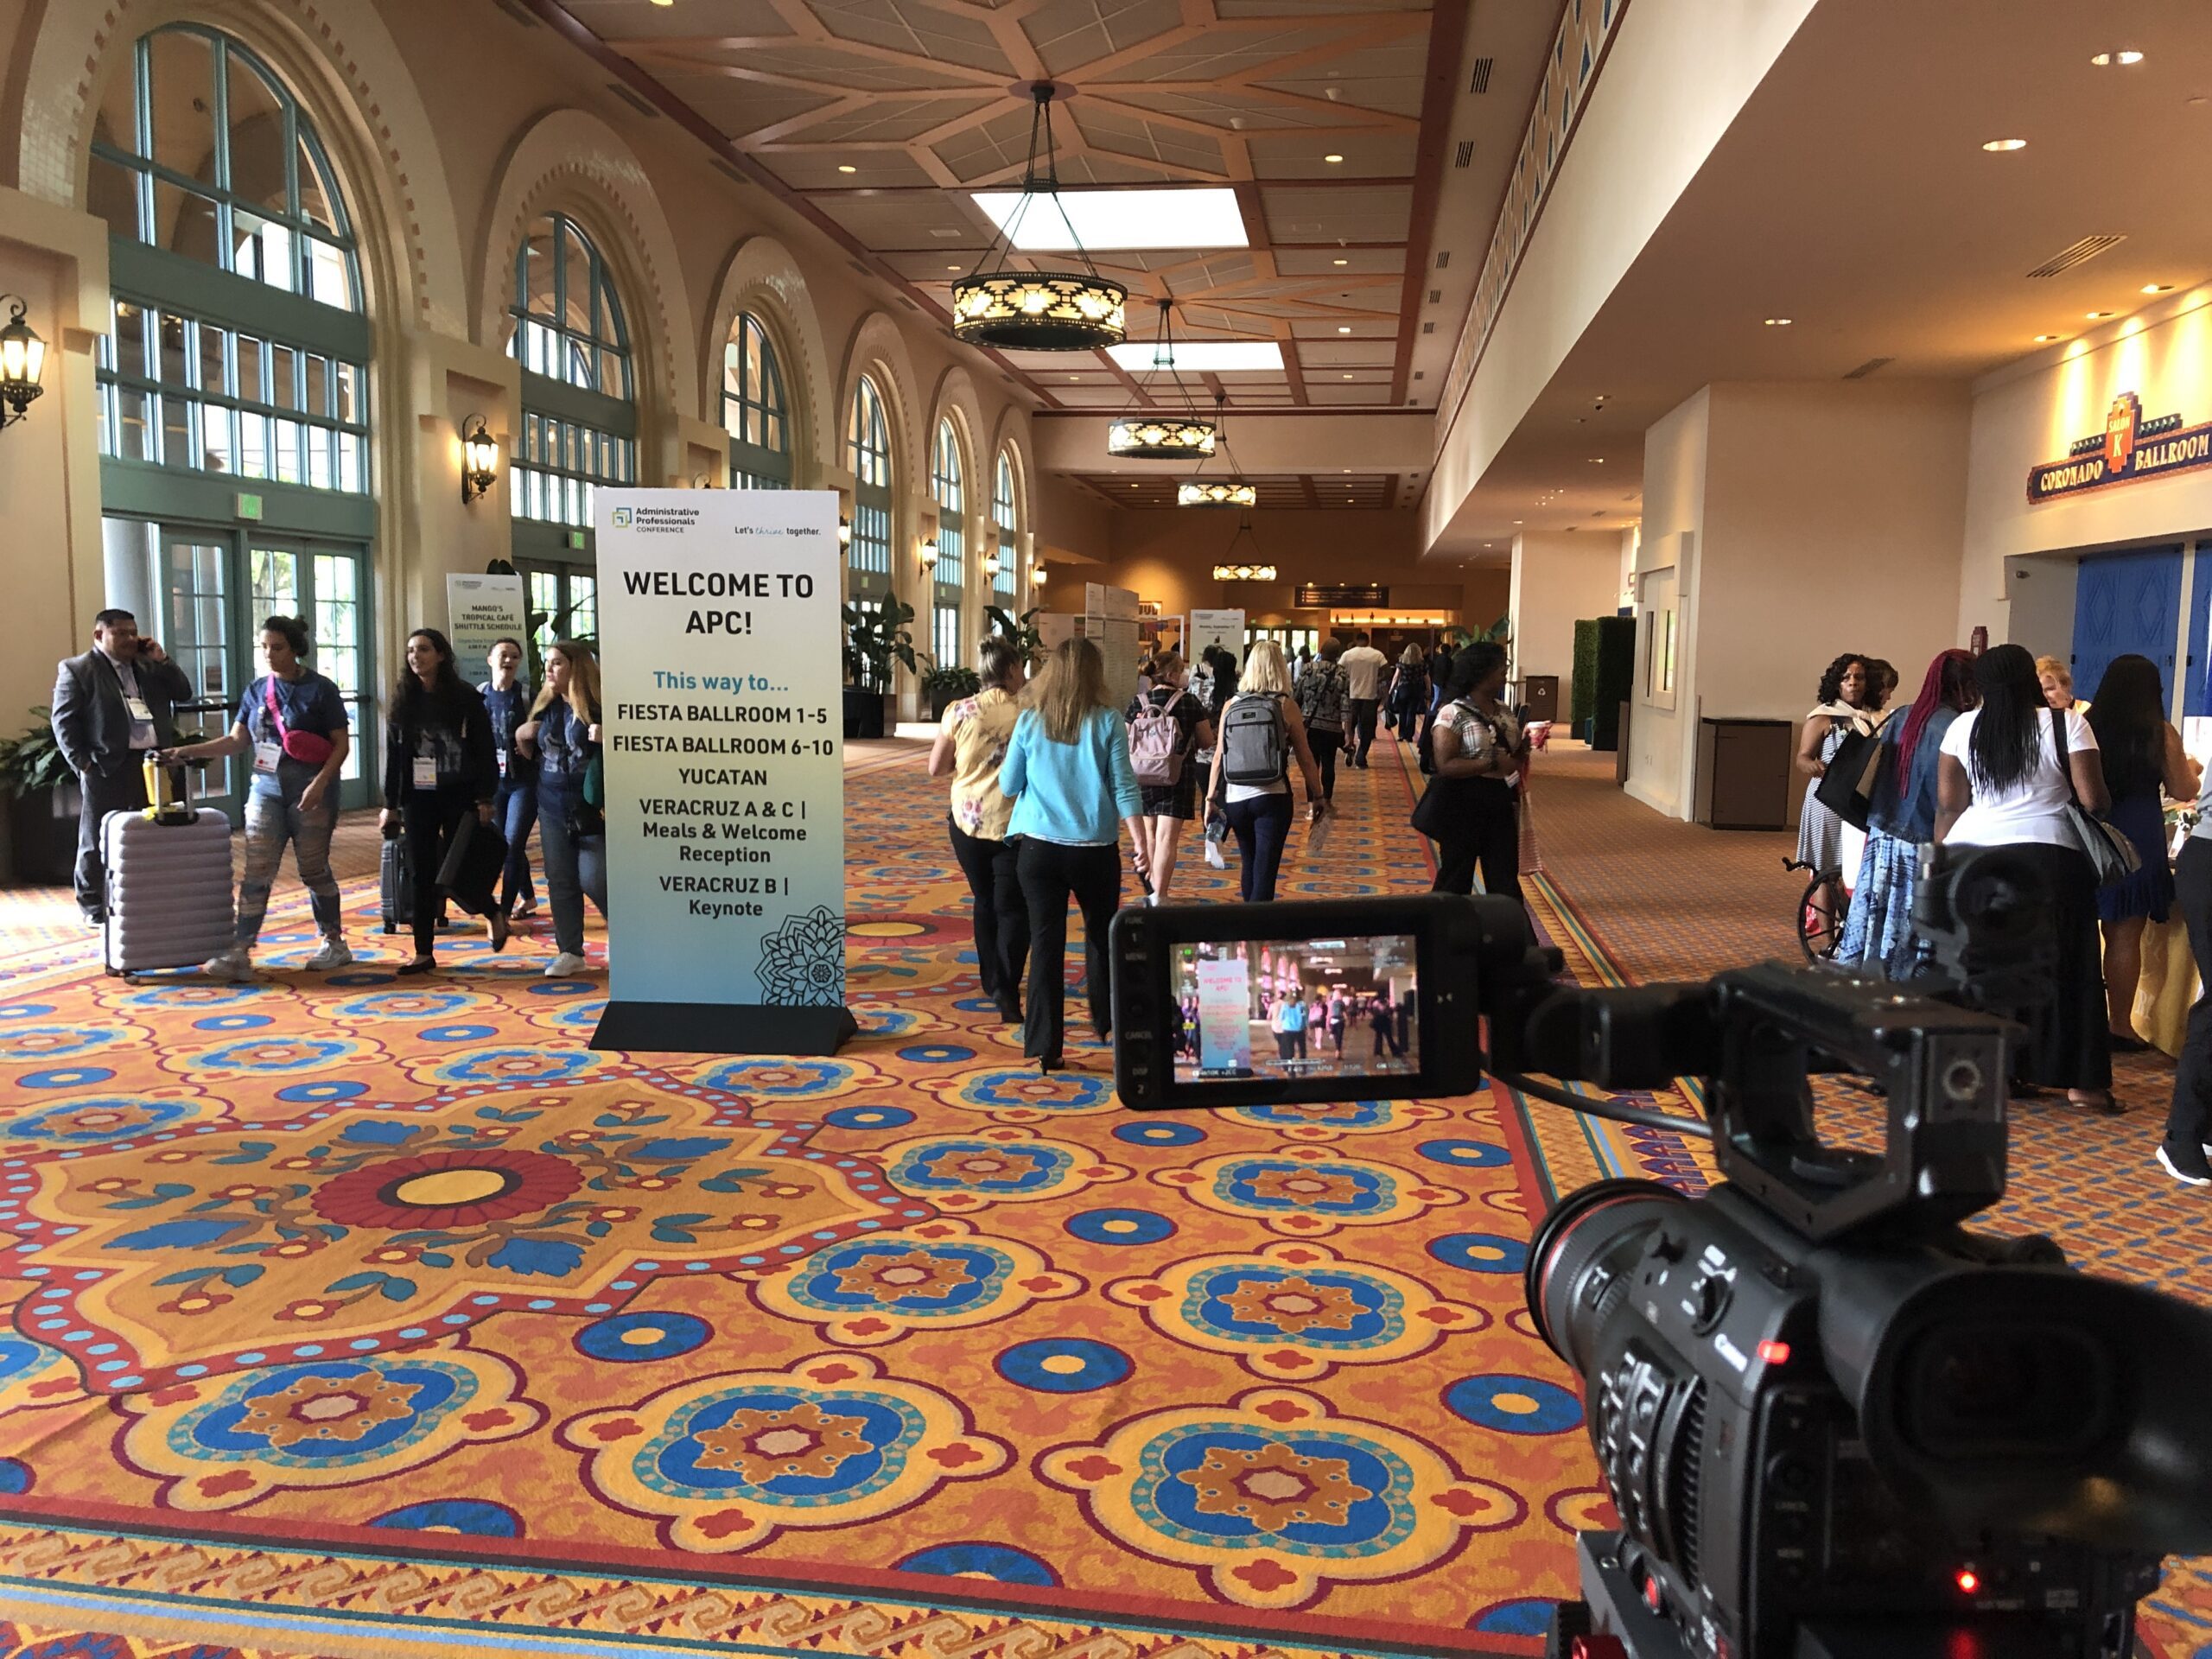
[(1436, 776), (1444, 790), (1433, 894), (1482, 889), (1520, 898), (1520, 770), (1528, 754), (1520, 721), (1500, 701), (1506, 650), (1482, 639), (1451, 661), (1451, 701), (1436, 712)]

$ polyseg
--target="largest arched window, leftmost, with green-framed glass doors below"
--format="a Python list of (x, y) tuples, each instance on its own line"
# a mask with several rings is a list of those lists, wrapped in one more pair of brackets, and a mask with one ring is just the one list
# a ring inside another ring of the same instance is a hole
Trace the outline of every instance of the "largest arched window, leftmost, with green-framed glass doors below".
[[(314, 666), (374, 732), (363, 597), (372, 330), (354, 226), (314, 119), (237, 40), (197, 24), (128, 49), (93, 117), (86, 206), (108, 223), (95, 356), (106, 604), (135, 611), (228, 730), (261, 622), (299, 615)], [(341, 803), (374, 781), (356, 741)], [(206, 799), (241, 805), (246, 768)]]

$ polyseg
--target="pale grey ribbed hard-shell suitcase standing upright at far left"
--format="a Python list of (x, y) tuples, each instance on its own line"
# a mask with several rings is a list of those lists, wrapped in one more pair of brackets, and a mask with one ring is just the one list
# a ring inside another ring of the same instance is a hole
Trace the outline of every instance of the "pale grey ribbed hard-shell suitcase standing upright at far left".
[(100, 821), (108, 880), (102, 964), (108, 973), (199, 967), (234, 938), (230, 818), (170, 794), (170, 770), (146, 763), (142, 812)]

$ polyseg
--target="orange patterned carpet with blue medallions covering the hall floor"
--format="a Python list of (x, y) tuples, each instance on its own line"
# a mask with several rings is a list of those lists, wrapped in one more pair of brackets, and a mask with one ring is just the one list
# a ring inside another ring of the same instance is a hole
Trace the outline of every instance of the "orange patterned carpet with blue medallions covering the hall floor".
[[(358, 863), (327, 984), (288, 883), (252, 987), (106, 980), (0, 898), (0, 1655), (1540, 1652), (1608, 1511), (1520, 1305), (1533, 1217), (1708, 1166), (1509, 1091), (1135, 1117), (1102, 1048), (1040, 1079), (918, 748), (847, 770), (836, 1060), (591, 1053), (604, 980), (544, 980), (542, 925), (400, 982)], [(1546, 772), (1537, 920), (1584, 982), (1652, 973), (1601, 940), (1610, 814), (1657, 821)], [(1413, 783), (1340, 774), (1283, 896), (1425, 887)], [(1630, 849), (1705, 951), (1661, 973), (1787, 942), (1672, 885), (1717, 843)], [(2048, 1128), (2024, 1219), (2197, 1265), (2185, 1208)], [(2159, 1659), (2208, 1613), (2179, 1579)]]

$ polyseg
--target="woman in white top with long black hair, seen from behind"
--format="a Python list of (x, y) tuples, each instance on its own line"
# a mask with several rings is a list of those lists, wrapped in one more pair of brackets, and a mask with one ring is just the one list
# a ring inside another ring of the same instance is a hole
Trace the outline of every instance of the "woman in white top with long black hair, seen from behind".
[[(2017, 1079), (2064, 1088), (2077, 1106), (2119, 1113), (2112, 1035), (2106, 1026), (2104, 958), (2097, 949), (2097, 872), (2075, 841), (2066, 807), (2110, 807), (2097, 734), (2073, 710), (2044, 701), (2035, 657), (1991, 646), (1973, 664), (1982, 706), (1951, 721), (1936, 763), (1936, 841), (2011, 847), (2046, 883), (2057, 933), (2057, 993), (2031, 1022)], [(2059, 754), (2057, 734), (2066, 734)]]

